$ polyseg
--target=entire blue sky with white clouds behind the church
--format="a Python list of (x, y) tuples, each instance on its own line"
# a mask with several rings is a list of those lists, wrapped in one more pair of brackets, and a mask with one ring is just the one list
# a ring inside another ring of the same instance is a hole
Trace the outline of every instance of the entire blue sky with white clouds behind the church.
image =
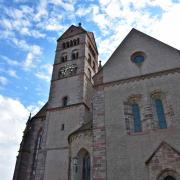
[(56, 40), (94, 32), (105, 63), (132, 28), (180, 49), (180, 0), (0, 0), (0, 177), (12, 178), (29, 112), (47, 101)]

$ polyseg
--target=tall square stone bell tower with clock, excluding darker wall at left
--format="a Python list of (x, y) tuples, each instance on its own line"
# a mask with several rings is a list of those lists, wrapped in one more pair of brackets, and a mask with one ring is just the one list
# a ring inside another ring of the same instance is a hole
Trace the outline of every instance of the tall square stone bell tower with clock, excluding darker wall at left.
[(92, 32), (70, 26), (57, 40), (48, 108), (44, 178), (68, 180), (68, 135), (92, 120), (98, 51)]

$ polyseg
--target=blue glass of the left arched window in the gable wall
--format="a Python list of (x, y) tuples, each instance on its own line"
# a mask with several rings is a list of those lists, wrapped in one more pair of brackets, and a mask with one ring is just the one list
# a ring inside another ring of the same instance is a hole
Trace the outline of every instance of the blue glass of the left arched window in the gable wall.
[(140, 115), (140, 108), (137, 103), (132, 104), (132, 114), (134, 119), (134, 132), (141, 132), (141, 115)]

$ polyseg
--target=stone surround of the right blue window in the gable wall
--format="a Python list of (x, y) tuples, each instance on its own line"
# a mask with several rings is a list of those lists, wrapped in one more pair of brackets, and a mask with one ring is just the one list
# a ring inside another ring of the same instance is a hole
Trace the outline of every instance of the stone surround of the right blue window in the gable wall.
[[(153, 128), (154, 129), (160, 129), (159, 119), (157, 116), (155, 102), (154, 102), (155, 99), (160, 99), (162, 101), (166, 125), (167, 125), (167, 128), (170, 127), (170, 125), (172, 124), (172, 121), (173, 121), (173, 110), (167, 101), (166, 93), (160, 89), (156, 89), (156, 90), (151, 92), (150, 97), (151, 97), (151, 105), (152, 105), (152, 111), (153, 111), (153, 123), (152, 123)], [(163, 129), (167, 129), (167, 128), (163, 128)]]

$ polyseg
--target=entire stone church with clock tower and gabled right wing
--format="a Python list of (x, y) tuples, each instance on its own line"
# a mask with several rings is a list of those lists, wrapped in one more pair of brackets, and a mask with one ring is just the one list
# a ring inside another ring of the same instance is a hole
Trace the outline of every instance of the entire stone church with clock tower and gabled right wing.
[(70, 26), (13, 180), (180, 180), (180, 51), (132, 29), (101, 66), (94, 34)]

